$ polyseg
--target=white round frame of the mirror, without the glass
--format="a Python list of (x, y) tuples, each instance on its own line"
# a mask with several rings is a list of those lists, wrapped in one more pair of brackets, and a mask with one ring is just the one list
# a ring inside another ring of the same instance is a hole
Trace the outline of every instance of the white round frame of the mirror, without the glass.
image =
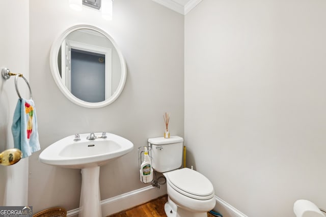
[[(121, 64), (121, 78), (120, 78), (119, 85), (118, 85), (116, 91), (114, 92), (114, 94), (110, 98), (108, 98), (102, 102), (89, 103), (89, 102), (80, 100), (80, 99), (76, 98), (75, 96), (73, 96), (71, 94), (71, 92), (68, 90), (68, 88), (61, 82), (61, 77), (60, 77), (59, 68), (58, 68), (58, 54), (59, 54), (59, 50), (61, 47), (61, 43), (70, 33), (74, 32), (75, 30), (78, 30), (78, 29), (91, 29), (91, 30), (101, 33), (108, 40), (110, 40), (112, 42), (112, 44), (116, 48), (117, 53), (119, 55), (120, 64)], [(121, 94), (124, 84), (126, 82), (126, 78), (127, 78), (127, 69), (126, 69), (125, 59), (124, 59), (120, 49), (118, 48), (116, 42), (104, 30), (97, 28), (95, 26), (86, 25), (86, 24), (73, 25), (73, 26), (69, 27), (67, 30), (65, 30), (65, 32), (63, 32), (61, 35), (59, 35), (59, 37), (57, 37), (57, 39), (53, 42), (51, 50), (50, 50), (50, 69), (51, 69), (53, 79), (55, 79), (55, 82), (58, 85), (59, 89), (62, 91), (62, 93), (71, 102), (73, 102), (77, 105), (83, 106), (83, 107), (87, 107), (87, 108), (100, 108), (100, 107), (104, 107), (104, 106), (107, 106), (107, 105), (113, 103)]]

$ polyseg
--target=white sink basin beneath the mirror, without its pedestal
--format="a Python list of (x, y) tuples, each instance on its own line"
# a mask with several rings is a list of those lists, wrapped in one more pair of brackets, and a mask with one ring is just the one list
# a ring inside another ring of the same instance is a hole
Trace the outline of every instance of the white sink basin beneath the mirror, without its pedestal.
[[(100, 136), (101, 133), (95, 133)], [(47, 148), (39, 157), (40, 162), (52, 166), (83, 169), (102, 166), (121, 157), (133, 149), (133, 144), (115, 134), (106, 134), (106, 138), (86, 139), (89, 134), (80, 134), (80, 141), (73, 141), (74, 135), (63, 138)]]

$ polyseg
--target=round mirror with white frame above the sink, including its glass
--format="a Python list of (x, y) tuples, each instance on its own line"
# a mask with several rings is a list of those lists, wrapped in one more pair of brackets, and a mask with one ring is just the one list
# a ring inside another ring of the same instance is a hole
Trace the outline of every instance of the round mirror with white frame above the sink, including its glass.
[(99, 108), (114, 102), (126, 81), (126, 64), (115, 41), (90, 25), (68, 28), (53, 42), (50, 68), (73, 103)]

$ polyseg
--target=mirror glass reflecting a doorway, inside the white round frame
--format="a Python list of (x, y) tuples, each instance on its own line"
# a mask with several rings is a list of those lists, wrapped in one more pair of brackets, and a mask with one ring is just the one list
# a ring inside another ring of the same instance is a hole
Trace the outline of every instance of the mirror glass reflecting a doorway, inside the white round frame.
[[(117, 53), (112, 47), (110, 40), (90, 29), (75, 30), (63, 40), (58, 68), (62, 83), (72, 95), (89, 103), (103, 102), (112, 96), (121, 76), (119, 59), (113, 56)], [(118, 60), (115, 66), (114, 59)]]

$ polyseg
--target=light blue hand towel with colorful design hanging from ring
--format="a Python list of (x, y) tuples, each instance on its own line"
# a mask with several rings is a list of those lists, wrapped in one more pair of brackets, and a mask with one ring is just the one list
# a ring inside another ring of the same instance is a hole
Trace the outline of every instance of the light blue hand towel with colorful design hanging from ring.
[(14, 147), (21, 150), (23, 158), (41, 149), (33, 100), (18, 99), (11, 131)]

